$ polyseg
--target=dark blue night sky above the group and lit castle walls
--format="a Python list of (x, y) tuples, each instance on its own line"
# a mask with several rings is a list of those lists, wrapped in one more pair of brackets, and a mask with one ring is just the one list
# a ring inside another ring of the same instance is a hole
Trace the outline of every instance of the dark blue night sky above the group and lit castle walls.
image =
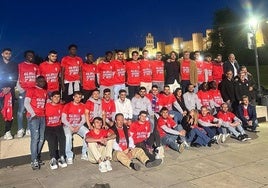
[[(251, 5), (251, 3), (253, 3)], [(191, 33), (212, 28), (216, 10), (229, 7), (242, 15), (267, 14), (266, 0), (1, 0), (0, 48), (10, 47), (16, 61), (25, 50), (40, 56), (55, 49), (62, 57), (71, 43), (78, 55), (95, 57), (107, 50), (145, 46), (151, 32), (156, 41), (191, 39)]]

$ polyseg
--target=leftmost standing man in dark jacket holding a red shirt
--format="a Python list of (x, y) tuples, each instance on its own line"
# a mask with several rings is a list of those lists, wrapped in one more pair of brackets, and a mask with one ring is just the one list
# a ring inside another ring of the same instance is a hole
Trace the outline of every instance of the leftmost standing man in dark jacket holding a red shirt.
[(15, 90), (17, 80), (16, 64), (11, 62), (12, 51), (10, 48), (2, 50), (0, 59), (0, 109), (5, 121), (4, 139), (12, 139), (11, 125), (13, 121), (13, 104), (15, 99)]

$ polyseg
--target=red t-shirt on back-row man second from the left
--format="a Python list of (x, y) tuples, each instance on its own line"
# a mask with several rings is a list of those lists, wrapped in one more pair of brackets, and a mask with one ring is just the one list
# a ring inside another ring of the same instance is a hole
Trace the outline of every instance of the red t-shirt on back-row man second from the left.
[(22, 62), (18, 65), (20, 86), (27, 90), (34, 88), (36, 85), (36, 77), (40, 75), (39, 67), (33, 63)]

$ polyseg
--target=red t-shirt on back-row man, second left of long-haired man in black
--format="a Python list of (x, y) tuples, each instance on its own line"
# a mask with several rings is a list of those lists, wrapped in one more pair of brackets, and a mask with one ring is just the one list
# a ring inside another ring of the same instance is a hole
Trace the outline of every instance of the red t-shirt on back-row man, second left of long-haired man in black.
[(152, 82), (152, 61), (143, 59), (140, 61), (141, 82)]

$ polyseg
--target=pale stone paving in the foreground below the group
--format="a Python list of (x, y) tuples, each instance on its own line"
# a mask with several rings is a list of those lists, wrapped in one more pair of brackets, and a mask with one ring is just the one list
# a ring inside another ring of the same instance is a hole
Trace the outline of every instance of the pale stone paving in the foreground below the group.
[(161, 166), (142, 167), (138, 172), (112, 162), (113, 171), (100, 173), (97, 165), (82, 161), (79, 155), (64, 169), (50, 170), (48, 161), (38, 171), (29, 164), (2, 168), (0, 187), (268, 188), (268, 123), (260, 124), (259, 130), (249, 133), (252, 140), (246, 142), (228, 138), (224, 144), (190, 148), (182, 154), (166, 148)]

